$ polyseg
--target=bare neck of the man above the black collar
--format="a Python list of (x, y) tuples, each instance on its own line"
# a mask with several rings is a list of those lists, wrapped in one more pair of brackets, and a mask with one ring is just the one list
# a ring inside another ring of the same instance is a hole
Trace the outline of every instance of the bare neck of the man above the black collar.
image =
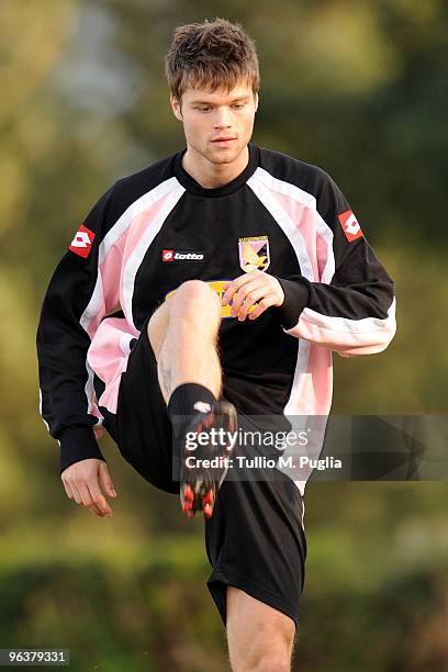
[(204, 189), (216, 189), (232, 182), (243, 172), (249, 163), (249, 149), (246, 147), (232, 164), (213, 164), (188, 145), (182, 157), (182, 168)]

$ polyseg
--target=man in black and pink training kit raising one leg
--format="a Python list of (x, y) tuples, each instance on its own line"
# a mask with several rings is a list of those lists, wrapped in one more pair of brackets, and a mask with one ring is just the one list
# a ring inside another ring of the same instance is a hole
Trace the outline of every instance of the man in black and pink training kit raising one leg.
[[(166, 72), (187, 149), (101, 197), (52, 278), (37, 333), (66, 493), (99, 516), (112, 513), (101, 488), (114, 496), (101, 425), (145, 479), (179, 493), (177, 418), (206, 429), (219, 415), (233, 427), (233, 406), (246, 426), (326, 416), (332, 351), (380, 352), (395, 331), (393, 281), (335, 182), (249, 144), (259, 71), (242, 27), (177, 29)], [(195, 502), (235, 670), (290, 669), (305, 482), (278, 474), (223, 472), (215, 499)]]

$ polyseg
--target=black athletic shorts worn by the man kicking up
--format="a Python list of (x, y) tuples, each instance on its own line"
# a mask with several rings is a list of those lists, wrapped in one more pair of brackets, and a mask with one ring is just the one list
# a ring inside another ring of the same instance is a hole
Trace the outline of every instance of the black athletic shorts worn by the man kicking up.
[[(172, 479), (171, 423), (158, 383), (147, 322), (132, 344), (127, 370), (122, 373), (116, 415), (100, 410), (104, 427), (124, 459), (149, 483), (179, 496), (179, 482)], [(97, 376), (94, 385), (99, 396), (104, 384)], [(243, 427), (248, 419), (237, 411)], [(205, 548), (213, 568), (208, 587), (224, 625), (227, 585), (279, 609), (298, 625), (306, 558), (304, 504), (294, 482), (281, 472), (277, 474), (276, 480), (226, 477), (212, 517), (204, 518)]]

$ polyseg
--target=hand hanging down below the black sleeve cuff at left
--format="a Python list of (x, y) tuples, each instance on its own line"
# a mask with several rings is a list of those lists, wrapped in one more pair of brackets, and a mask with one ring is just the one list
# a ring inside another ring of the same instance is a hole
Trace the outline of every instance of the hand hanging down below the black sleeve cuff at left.
[(75, 462), (64, 469), (60, 478), (69, 500), (82, 504), (101, 518), (112, 516), (112, 508), (105, 501), (100, 485), (111, 497), (116, 497), (116, 492), (103, 460), (89, 458)]

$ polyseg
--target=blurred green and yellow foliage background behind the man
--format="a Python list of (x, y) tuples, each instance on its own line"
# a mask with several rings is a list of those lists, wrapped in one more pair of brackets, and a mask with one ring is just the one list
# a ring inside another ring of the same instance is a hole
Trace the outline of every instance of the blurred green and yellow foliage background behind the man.
[[(255, 141), (326, 169), (396, 281), (380, 355), (335, 357), (340, 414), (446, 412), (448, 7), (444, 0), (0, 2), (0, 647), (71, 669), (221, 671), (201, 519), (101, 440), (114, 516), (67, 500), (38, 414), (35, 329), (79, 222), (183, 146), (164, 55), (221, 15), (258, 44)], [(447, 484), (310, 483), (294, 669), (448, 669)]]

